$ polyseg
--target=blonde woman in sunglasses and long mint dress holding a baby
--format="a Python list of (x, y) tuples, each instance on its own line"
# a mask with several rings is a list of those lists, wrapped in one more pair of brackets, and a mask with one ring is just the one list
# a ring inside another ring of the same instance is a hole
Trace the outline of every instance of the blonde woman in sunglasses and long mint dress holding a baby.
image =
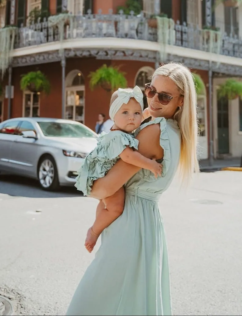
[[(102, 234), (67, 315), (171, 315), (166, 237), (159, 197), (177, 167), (187, 181), (198, 171), (196, 92), (191, 72), (170, 63), (158, 68), (145, 87), (152, 120), (136, 131), (139, 152), (163, 158), (162, 177), (119, 160), (94, 182), (92, 196), (103, 199), (125, 185), (125, 206)], [(162, 205), (162, 204), (161, 204)]]

